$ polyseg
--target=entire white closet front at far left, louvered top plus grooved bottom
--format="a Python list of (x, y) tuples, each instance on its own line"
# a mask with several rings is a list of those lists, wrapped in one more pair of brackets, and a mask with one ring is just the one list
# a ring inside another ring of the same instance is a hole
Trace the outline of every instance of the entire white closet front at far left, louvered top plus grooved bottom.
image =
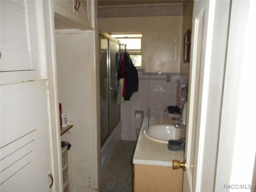
[(0, 0), (0, 191), (51, 192), (44, 1)]

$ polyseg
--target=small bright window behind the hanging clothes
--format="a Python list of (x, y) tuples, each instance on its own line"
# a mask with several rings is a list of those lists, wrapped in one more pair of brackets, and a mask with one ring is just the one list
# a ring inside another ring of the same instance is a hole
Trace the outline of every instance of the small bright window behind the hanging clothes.
[(122, 44), (126, 44), (126, 50), (134, 66), (141, 67), (141, 38), (142, 34), (111, 34)]

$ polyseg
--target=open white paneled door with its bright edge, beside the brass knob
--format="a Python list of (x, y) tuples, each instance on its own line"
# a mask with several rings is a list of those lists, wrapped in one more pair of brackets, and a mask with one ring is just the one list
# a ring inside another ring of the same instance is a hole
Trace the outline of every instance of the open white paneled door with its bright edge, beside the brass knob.
[(183, 191), (214, 191), (230, 1), (194, 1)]

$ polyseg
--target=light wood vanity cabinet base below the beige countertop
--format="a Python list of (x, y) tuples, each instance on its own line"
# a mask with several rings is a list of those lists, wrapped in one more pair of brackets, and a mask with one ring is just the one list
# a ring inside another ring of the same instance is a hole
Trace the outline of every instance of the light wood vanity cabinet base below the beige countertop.
[(134, 192), (182, 192), (183, 170), (134, 164)]

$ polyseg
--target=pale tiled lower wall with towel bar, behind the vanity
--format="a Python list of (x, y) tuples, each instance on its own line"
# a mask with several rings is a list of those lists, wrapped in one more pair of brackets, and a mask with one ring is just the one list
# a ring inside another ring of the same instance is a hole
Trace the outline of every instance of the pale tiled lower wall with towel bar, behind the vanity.
[[(164, 109), (170, 105), (176, 105), (176, 86), (180, 75), (172, 75), (170, 82), (166, 80), (154, 80), (165, 76), (142, 75), (138, 72), (139, 89), (130, 101), (121, 104), (122, 140), (136, 140), (137, 120), (134, 116), (136, 110), (144, 111), (147, 116), (147, 108), (150, 106), (150, 116), (164, 117)], [(140, 78), (151, 78), (145, 80)]]

